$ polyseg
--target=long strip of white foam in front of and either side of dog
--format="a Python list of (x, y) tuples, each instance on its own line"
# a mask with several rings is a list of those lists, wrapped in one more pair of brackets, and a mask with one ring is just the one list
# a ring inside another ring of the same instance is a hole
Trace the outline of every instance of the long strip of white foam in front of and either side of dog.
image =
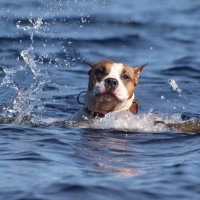
[[(196, 120), (197, 119), (194, 118), (190, 119), (188, 122), (195, 122)], [(112, 112), (107, 114), (104, 118), (96, 118), (92, 120), (86, 117), (84, 118), (84, 121), (63, 121), (49, 118), (45, 120), (43, 119), (42, 122), (49, 125), (75, 126), (79, 128), (159, 133), (171, 131), (173, 129), (173, 124), (178, 125), (186, 121), (182, 120), (181, 114), (161, 117), (158, 114), (150, 112), (147, 114), (132, 114), (129, 111), (121, 111)], [(174, 130), (177, 130), (176, 126), (174, 126)]]

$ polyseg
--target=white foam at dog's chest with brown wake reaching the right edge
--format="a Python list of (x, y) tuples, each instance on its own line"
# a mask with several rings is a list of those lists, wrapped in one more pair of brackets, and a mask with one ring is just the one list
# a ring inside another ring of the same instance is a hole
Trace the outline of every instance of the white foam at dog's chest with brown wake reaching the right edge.
[(162, 117), (155, 113), (133, 115), (129, 111), (113, 112), (104, 118), (94, 119), (90, 123), (80, 124), (82, 128), (114, 129), (134, 132), (181, 131), (200, 132), (198, 118), (183, 120), (181, 114)]

